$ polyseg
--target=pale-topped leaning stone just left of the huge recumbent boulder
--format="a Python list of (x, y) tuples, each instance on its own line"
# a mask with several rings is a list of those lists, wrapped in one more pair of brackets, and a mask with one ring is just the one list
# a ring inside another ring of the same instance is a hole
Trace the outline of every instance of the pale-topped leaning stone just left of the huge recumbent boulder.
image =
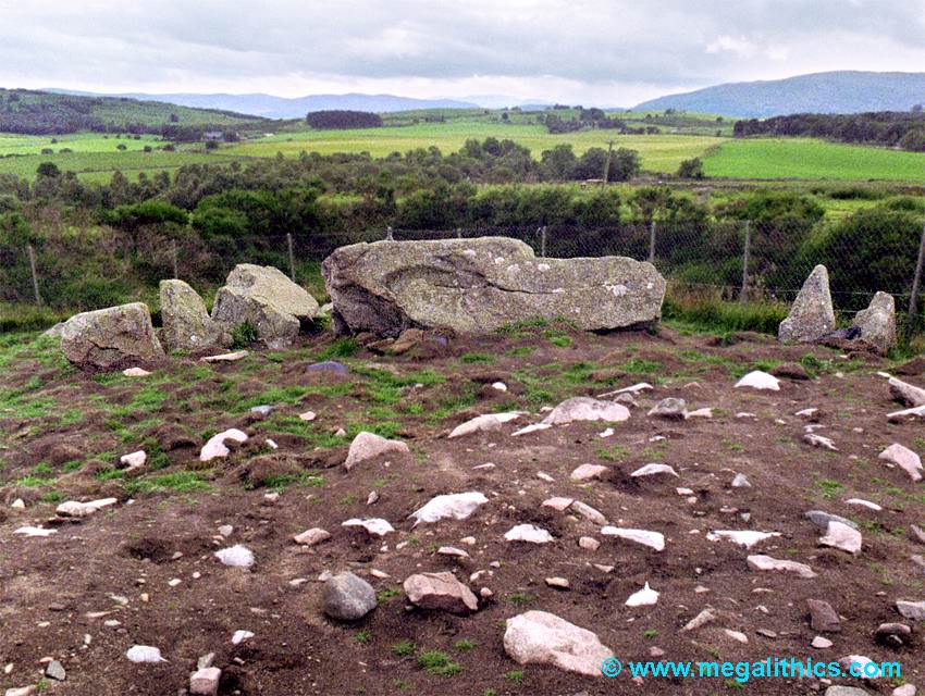
[(270, 348), (282, 348), (295, 338), (301, 322), (318, 313), (308, 291), (273, 266), (239, 263), (215, 295), (212, 319), (229, 328), (249, 323)]

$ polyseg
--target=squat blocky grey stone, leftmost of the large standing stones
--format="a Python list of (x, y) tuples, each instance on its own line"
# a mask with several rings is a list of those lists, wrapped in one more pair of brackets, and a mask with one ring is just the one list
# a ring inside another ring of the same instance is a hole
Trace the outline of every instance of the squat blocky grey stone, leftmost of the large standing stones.
[(111, 371), (164, 357), (151, 313), (141, 302), (83, 312), (61, 330), (61, 348), (82, 370)]

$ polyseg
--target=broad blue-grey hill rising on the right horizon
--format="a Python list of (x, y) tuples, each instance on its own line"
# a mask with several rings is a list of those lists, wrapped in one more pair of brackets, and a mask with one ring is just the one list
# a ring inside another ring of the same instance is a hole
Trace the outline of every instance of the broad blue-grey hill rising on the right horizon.
[(634, 110), (677, 109), (723, 116), (765, 117), (793, 113), (909, 111), (925, 103), (925, 73), (836, 71), (785, 79), (726, 83), (668, 95)]

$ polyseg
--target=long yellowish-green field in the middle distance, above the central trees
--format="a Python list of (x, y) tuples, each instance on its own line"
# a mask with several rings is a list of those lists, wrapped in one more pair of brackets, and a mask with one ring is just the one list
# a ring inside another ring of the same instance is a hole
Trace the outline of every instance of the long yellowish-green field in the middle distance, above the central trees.
[(222, 148), (222, 152), (248, 157), (274, 157), (282, 152), (297, 157), (299, 152), (369, 152), (385, 157), (416, 148), (435, 146), (444, 153), (459, 150), (469, 138), (508, 138), (530, 149), (539, 159), (543, 150), (569, 144), (576, 154), (592, 147), (605, 148), (609, 140), (615, 148), (638, 150), (642, 167), (650, 172), (674, 172), (681, 160), (703, 154), (711, 146), (723, 142), (712, 136), (680, 135), (615, 135), (607, 130), (580, 130), (552, 135), (541, 125), (488, 123), (484, 121), (451, 121), (421, 123), (412, 126), (362, 128), (355, 130), (304, 130), (280, 133), (258, 140), (247, 140)]

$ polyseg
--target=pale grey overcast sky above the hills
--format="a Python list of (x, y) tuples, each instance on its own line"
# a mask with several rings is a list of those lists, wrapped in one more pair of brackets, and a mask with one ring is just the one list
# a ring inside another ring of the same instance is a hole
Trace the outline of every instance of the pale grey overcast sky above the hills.
[(632, 105), (925, 71), (925, 0), (0, 0), (0, 86)]

